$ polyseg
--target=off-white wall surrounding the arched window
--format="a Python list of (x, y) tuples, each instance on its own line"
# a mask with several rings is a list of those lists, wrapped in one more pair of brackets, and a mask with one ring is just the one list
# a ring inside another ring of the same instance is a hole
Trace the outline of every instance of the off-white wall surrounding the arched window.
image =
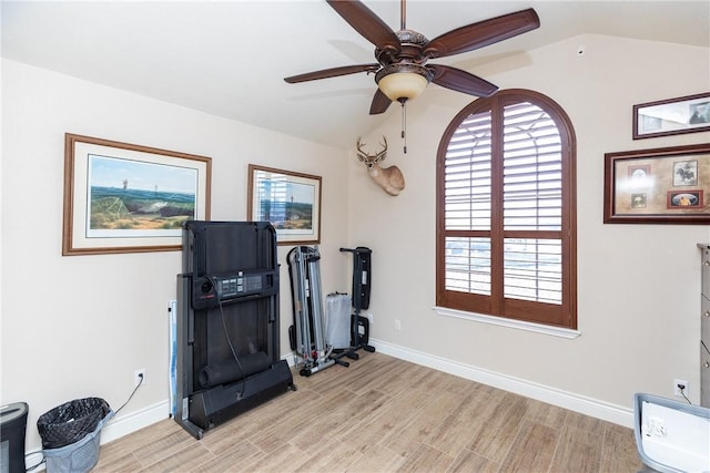
[[(582, 56), (577, 54), (580, 44), (586, 45)], [(708, 142), (708, 133), (631, 138), (633, 104), (710, 90), (708, 48), (586, 35), (475, 73), (501, 89), (541, 92), (572, 121), (582, 335), (568, 340), (434, 312), (436, 151), (444, 130), (470, 99), (430, 86), (408, 105), (406, 155), (398, 113), (365, 140), (388, 137), (385, 165), (399, 166), (407, 181), (398, 197), (368, 192), (374, 184), (349, 161), (349, 238), (373, 248), (372, 336), (627, 409), (636, 391), (672, 397), (673, 378), (690, 381), (691, 400), (698, 402), (696, 244), (709, 239), (708, 227), (604, 225), (604, 154)], [(400, 331), (395, 319), (402, 321)]]

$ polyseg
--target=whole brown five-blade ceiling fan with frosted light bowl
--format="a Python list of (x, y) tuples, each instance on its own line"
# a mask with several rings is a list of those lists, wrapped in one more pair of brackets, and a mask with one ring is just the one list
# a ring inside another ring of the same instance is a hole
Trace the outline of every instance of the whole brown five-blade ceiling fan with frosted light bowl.
[(476, 96), (489, 96), (498, 88), (460, 69), (427, 64), (436, 58), (460, 54), (516, 37), (540, 25), (535, 10), (527, 9), (479, 21), (428, 40), (406, 28), (406, 0), (400, 2), (402, 23), (393, 31), (383, 20), (357, 0), (326, 0), (327, 3), (367, 41), (375, 45), (376, 63), (344, 65), (284, 80), (291, 84), (358, 72), (374, 73), (377, 91), (369, 114), (384, 113), (393, 101), (404, 106), (420, 94), (429, 82)]

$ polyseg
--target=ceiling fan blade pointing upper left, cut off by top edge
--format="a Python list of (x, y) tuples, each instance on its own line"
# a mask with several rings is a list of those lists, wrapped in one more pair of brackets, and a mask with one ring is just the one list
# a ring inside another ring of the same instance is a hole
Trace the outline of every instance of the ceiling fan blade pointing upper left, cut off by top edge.
[(399, 39), (395, 32), (362, 2), (356, 0), (327, 0), (327, 2), (355, 31), (375, 47), (383, 51), (399, 52)]

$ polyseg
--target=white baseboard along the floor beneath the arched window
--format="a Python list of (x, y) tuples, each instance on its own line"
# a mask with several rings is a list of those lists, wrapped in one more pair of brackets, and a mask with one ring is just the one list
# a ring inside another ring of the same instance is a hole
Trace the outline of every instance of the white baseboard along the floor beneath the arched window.
[(412, 350), (382, 340), (369, 339), (369, 345), (377, 351), (400, 360), (410, 361), (424, 367), (433, 368), (445, 373), (454, 374), (464, 379), (480, 382), (483, 384), (499, 388), (505, 391), (547, 402), (559, 408), (569, 409), (585, 415), (591, 415), (604, 421), (612, 422), (633, 429), (633, 410), (611, 404), (572, 392), (562, 391), (548, 385), (538, 384), (495, 371), (464, 364), (458, 361), (448, 360), (422, 351)]

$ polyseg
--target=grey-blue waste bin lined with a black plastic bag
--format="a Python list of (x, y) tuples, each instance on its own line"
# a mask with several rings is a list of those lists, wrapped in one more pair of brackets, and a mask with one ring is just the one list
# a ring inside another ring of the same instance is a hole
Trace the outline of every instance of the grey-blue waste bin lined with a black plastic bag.
[(101, 398), (75, 399), (40, 415), (37, 429), (48, 473), (84, 473), (99, 462), (101, 429), (113, 418)]

